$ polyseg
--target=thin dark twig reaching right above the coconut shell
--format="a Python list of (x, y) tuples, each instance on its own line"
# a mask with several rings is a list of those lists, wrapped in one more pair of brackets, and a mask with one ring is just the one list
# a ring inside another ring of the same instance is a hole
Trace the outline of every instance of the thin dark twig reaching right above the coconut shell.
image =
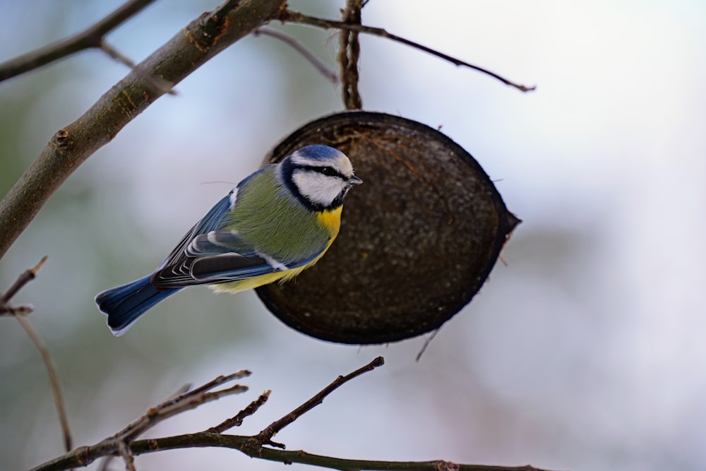
[(280, 12), (280, 16), (277, 19), (280, 20), (282, 23), (301, 23), (304, 25), (316, 26), (316, 28), (323, 28), (325, 30), (337, 28), (342, 30), (364, 32), (369, 35), (386, 37), (389, 40), (401, 42), (402, 44), (407, 44), (407, 46), (414, 47), (415, 49), (420, 49), (421, 51), (428, 52), (429, 54), (433, 54), (434, 56), (444, 59), (445, 61), (449, 61), (457, 66), (464, 66), (472, 68), (475, 71), (485, 73), (486, 75), (491, 76), (498, 81), (501, 81), (505, 85), (517, 88), (517, 90), (520, 90), (521, 92), (530, 92), (537, 88), (536, 85), (527, 87), (526, 85), (521, 85), (520, 83), (509, 81), (507, 78), (499, 76), (497, 73), (491, 72), (486, 68), (474, 66), (473, 64), (469, 64), (468, 62), (462, 61), (461, 59), (456, 59), (455, 57), (443, 54), (443, 52), (438, 52), (435, 49), (431, 49), (431, 47), (426, 47), (422, 44), (419, 44), (418, 42), (410, 41), (405, 39), (404, 37), (393, 35), (392, 33), (387, 32), (387, 30), (385, 30), (384, 28), (373, 28), (371, 26), (356, 25), (354, 23), (344, 23), (342, 21), (327, 20), (325, 18), (317, 18), (315, 16), (304, 15), (304, 13), (299, 13), (298, 11), (289, 10)]

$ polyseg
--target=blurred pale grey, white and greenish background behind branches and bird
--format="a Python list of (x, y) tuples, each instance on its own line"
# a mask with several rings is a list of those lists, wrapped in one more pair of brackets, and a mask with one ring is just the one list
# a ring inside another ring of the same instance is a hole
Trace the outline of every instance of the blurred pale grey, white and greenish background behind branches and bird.
[[(217, 1), (159, 1), (109, 35), (140, 61)], [(71, 35), (121, 4), (0, 2), (0, 61)], [(342, 1), (294, 1), (337, 18)], [(281, 138), (342, 109), (296, 52), (246, 37), (177, 85), (78, 169), (0, 262), (6, 290), (54, 357), (76, 446), (100, 441), (184, 383), (237, 369), (249, 393), (163, 422), (201, 431), (265, 389), (253, 434), (345, 374), (278, 434), (292, 450), (375, 460), (445, 459), (555, 470), (690, 470), (706, 460), (706, 4), (677, 1), (373, 0), (363, 21), (501, 73), (361, 36), (364, 108), (441, 130), (524, 220), (469, 306), (425, 338), (356, 347), (308, 338), (253, 292), (193, 288), (114, 338), (94, 295), (157, 266)], [(335, 68), (337, 36), (273, 25)], [(126, 75), (81, 52), (0, 83), (0, 194), (52, 134)], [(224, 180), (226, 182), (224, 182)], [(63, 452), (37, 351), (0, 319), (0, 469)], [(138, 470), (281, 470), (236, 451), (136, 458)], [(122, 469), (120, 462), (114, 469)], [(292, 468), (304, 469), (293, 465)], [(91, 469), (97, 469), (93, 465)]]

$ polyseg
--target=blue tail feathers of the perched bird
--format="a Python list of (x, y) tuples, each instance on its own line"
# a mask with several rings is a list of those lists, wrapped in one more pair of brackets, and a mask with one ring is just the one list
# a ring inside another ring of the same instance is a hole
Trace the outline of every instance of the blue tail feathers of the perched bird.
[(96, 295), (95, 303), (98, 309), (108, 315), (108, 327), (114, 335), (123, 335), (145, 311), (181, 290), (157, 290), (150, 283), (150, 276)]

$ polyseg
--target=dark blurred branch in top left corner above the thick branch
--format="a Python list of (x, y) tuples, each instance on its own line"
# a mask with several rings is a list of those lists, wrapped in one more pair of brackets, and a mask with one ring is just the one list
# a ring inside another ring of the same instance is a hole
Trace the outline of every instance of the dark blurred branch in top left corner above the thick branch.
[(0, 64), (0, 81), (51, 64), (84, 49), (102, 49), (102, 40), (105, 35), (154, 1), (129, 0), (95, 25), (76, 35)]

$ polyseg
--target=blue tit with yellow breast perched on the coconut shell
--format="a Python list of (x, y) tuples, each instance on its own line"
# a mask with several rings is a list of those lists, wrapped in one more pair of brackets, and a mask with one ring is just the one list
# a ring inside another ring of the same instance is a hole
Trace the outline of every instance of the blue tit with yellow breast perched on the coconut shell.
[(344, 198), (361, 183), (340, 150), (299, 148), (237, 184), (154, 273), (97, 294), (98, 309), (119, 336), (185, 287), (239, 292), (290, 280), (331, 246), (340, 230)]

